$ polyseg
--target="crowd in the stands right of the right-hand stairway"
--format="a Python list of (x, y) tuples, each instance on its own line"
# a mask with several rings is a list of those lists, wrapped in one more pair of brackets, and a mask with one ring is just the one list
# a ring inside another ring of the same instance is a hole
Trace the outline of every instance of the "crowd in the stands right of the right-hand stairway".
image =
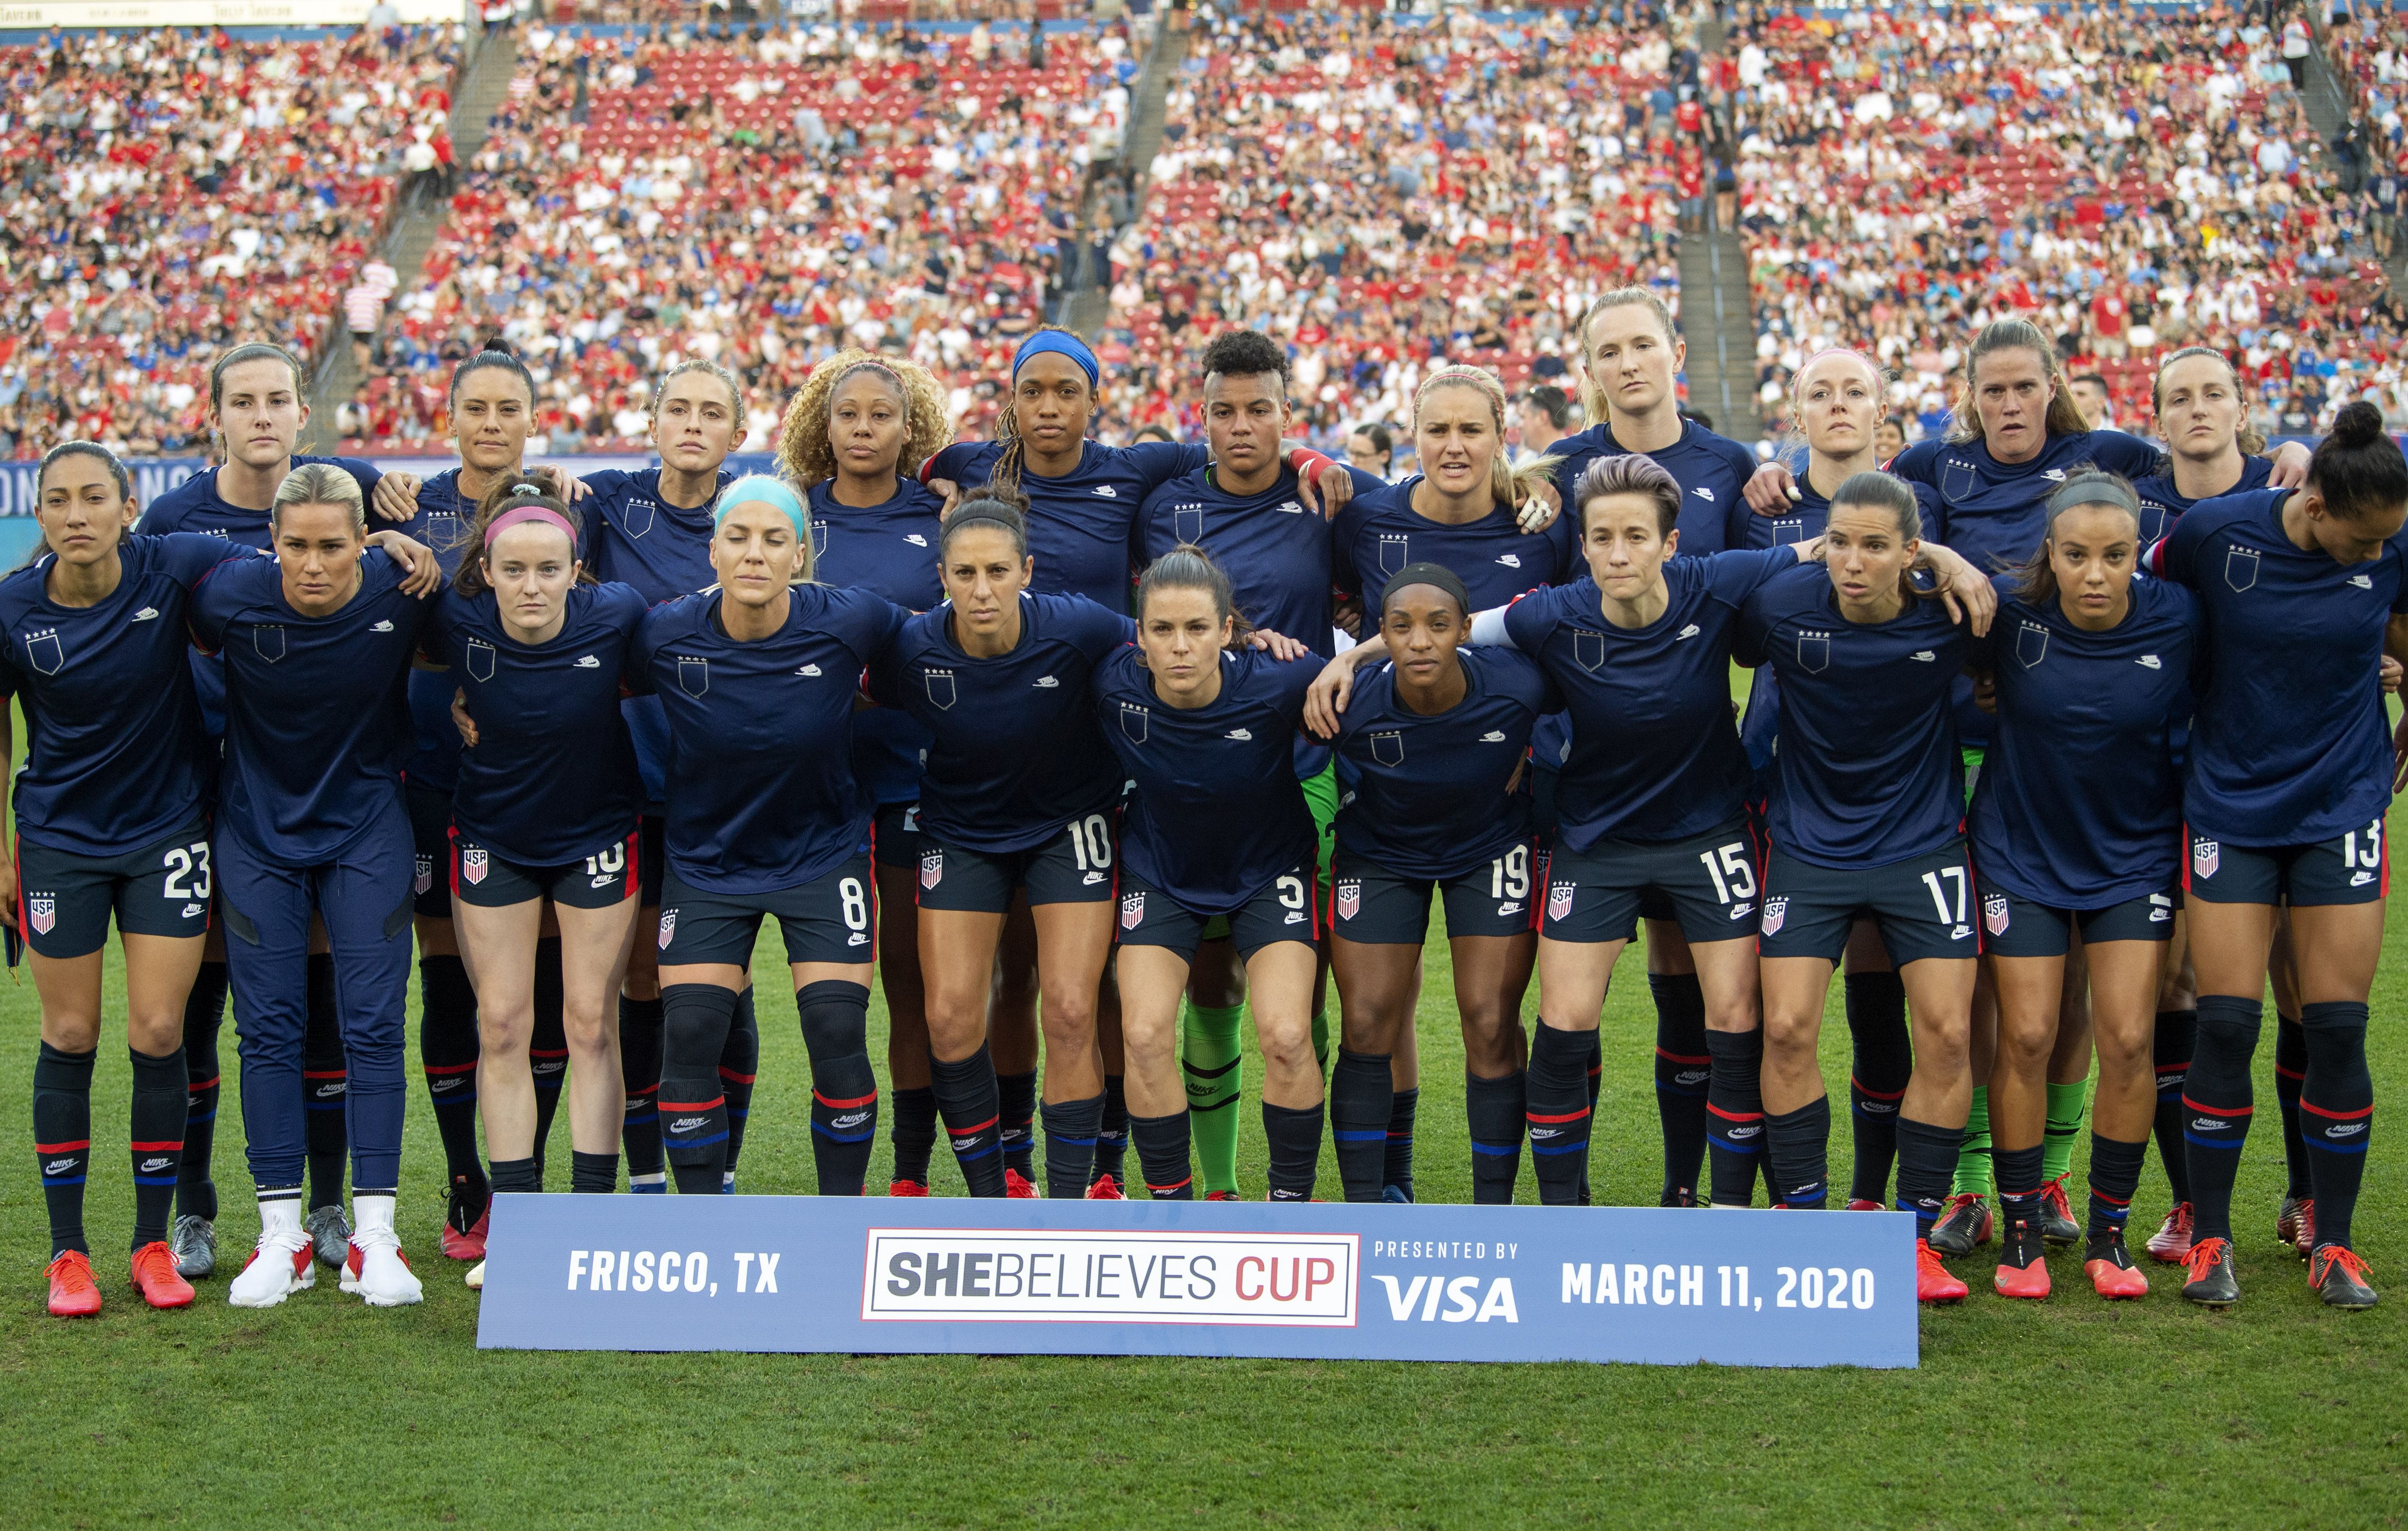
[(2319, 431), (2353, 397), (2408, 424), (2401, 323), (2379, 301), (2386, 214), (2319, 140), (2261, 12), (2141, 29), (2081, 10), (1755, 10), (1731, 53), (1775, 433), (1825, 344), (1878, 349), (1907, 436), (1938, 431), (1955, 337), (1999, 315), (2054, 335), (2119, 424), (2148, 421), (2150, 356), (2182, 344), (2235, 356), (2266, 436)]

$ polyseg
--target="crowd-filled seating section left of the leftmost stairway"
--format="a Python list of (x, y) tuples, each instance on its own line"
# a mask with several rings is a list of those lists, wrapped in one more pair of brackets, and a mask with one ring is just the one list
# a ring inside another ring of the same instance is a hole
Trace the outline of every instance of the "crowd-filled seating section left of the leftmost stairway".
[(99, 31), (0, 48), (0, 453), (207, 443), (207, 363), (320, 351), (412, 135), (450, 108), (453, 29), (347, 41)]

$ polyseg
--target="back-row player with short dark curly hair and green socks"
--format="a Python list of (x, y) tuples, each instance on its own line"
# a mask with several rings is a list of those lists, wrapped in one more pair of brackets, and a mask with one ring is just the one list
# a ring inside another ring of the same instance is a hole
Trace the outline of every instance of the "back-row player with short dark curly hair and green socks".
[[(1303, 484), (1281, 457), (1288, 428), (1288, 351), (1259, 330), (1223, 330), (1204, 347), (1204, 441), (1211, 462), (1170, 479), (1146, 496), (1132, 532), (1132, 561), (1146, 568), (1175, 546), (1204, 549), (1228, 571), (1238, 611), (1247, 621), (1293, 633), (1320, 657), (1334, 652), (1329, 609), (1329, 525), (1305, 510)], [(1351, 469), (1353, 491), (1385, 489), (1385, 479)], [(1329, 749), (1296, 739), (1296, 780), (1320, 830), (1322, 891), (1329, 883), (1332, 833), (1339, 790)], [(1322, 997), (1327, 956), (1315, 980), (1312, 1052), (1327, 1059), (1329, 1030)], [(1180, 1011), (1180, 1071), (1187, 1081), (1187, 1117), (1194, 1127), (1197, 1175), (1206, 1201), (1238, 1194), (1238, 1100), (1245, 1093), (1240, 1023), (1245, 1018), (1245, 970), (1223, 927), (1209, 927), (1197, 946)], [(1411, 1083), (1411, 1078), (1406, 1078)], [(1117, 1100), (1122, 1081), (1105, 1078), (1108, 1119), (1127, 1122)], [(1411, 1199), (1416, 1090), (1397, 1093), (1392, 1163), (1387, 1184)], [(1112, 1107), (1120, 1107), (1117, 1112)], [(1125, 1131), (1125, 1127), (1122, 1127)]]

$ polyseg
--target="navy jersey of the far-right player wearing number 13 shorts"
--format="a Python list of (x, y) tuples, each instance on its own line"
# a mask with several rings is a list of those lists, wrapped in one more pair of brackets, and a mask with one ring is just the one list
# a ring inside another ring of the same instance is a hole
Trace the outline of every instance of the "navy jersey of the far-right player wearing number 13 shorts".
[(2208, 611), (2182, 806), (2232, 845), (2312, 845), (2391, 806), (2377, 672), (2408, 611), (2408, 532), (2374, 563), (2336, 563), (2283, 534), (2290, 493), (2199, 501), (2148, 556)]

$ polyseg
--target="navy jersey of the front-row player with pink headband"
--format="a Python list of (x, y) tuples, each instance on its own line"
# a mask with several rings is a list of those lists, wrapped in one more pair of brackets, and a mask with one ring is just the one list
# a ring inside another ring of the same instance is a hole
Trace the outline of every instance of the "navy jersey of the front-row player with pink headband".
[(561, 867), (636, 828), (643, 782), (619, 715), (626, 645), (645, 599), (628, 585), (573, 585), (551, 643), (501, 626), (494, 592), (445, 590), (419, 648), (467, 691), (477, 749), (460, 751), (453, 821), (508, 862)]

